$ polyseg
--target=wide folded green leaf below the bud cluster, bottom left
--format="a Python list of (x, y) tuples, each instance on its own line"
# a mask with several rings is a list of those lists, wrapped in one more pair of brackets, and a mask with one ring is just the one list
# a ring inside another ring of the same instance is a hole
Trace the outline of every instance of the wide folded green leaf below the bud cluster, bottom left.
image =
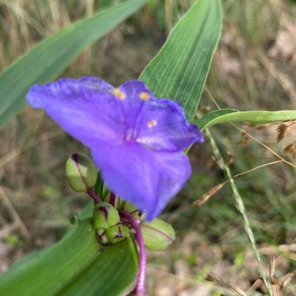
[(12, 265), (0, 295), (122, 295), (136, 278), (137, 252), (130, 237), (101, 249), (92, 223), (76, 220), (61, 241)]

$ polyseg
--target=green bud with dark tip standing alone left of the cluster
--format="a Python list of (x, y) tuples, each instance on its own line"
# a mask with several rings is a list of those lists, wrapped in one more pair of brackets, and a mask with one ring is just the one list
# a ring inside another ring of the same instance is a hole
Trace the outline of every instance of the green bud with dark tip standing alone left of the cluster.
[(82, 153), (72, 154), (66, 162), (66, 177), (76, 192), (86, 192), (97, 181), (97, 168), (93, 161)]

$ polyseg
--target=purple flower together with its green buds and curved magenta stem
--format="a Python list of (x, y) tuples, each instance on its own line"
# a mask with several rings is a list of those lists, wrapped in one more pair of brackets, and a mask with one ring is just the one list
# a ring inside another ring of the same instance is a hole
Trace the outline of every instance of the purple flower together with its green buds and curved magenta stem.
[[(73, 154), (67, 162), (69, 183), (78, 192), (88, 192), (97, 203), (93, 219), (100, 243), (122, 241), (128, 234), (124, 223), (136, 231), (140, 266), (135, 293), (146, 295), (142, 220), (154, 220), (188, 180), (191, 168), (184, 150), (203, 142), (199, 128), (188, 123), (179, 103), (155, 98), (140, 80), (114, 88), (95, 77), (60, 79), (33, 86), (27, 101), (34, 108), (44, 108), (63, 129), (90, 148), (111, 190), (109, 203), (92, 191), (95, 169), (81, 154)], [(115, 194), (135, 205), (141, 215), (135, 219), (134, 210), (129, 213), (121, 207), (118, 213)], [(152, 249), (163, 249), (174, 240), (174, 231), (165, 222), (145, 224), (147, 241), (151, 231), (158, 233)]]

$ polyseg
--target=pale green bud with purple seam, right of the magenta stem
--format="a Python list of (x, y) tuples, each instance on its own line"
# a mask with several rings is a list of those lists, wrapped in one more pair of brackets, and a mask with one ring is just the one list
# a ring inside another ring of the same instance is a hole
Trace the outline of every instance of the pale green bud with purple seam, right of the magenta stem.
[(160, 219), (143, 222), (141, 231), (146, 248), (152, 251), (164, 250), (175, 240), (174, 228)]

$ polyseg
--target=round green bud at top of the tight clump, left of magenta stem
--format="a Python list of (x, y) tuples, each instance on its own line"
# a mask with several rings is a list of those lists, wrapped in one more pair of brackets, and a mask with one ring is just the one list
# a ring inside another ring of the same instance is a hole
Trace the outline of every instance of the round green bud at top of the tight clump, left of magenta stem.
[(108, 229), (119, 222), (119, 214), (111, 204), (99, 202), (95, 205), (93, 219), (95, 229)]

